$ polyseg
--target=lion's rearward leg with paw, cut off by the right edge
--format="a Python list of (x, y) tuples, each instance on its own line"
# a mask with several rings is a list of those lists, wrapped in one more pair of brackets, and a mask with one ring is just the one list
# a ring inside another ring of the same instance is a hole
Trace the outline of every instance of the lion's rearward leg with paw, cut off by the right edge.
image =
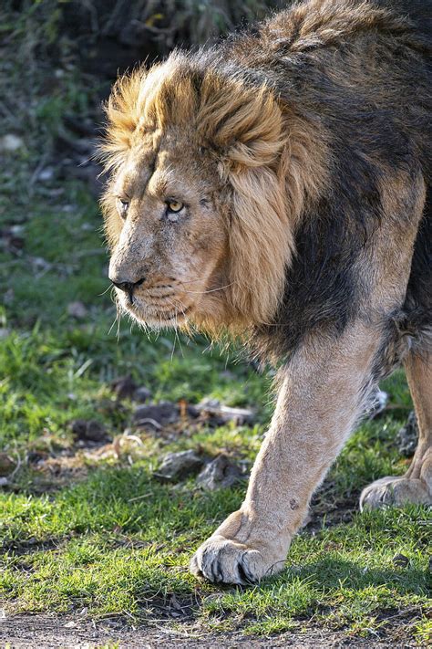
[(405, 367), (419, 428), (416, 454), (405, 476), (383, 477), (365, 487), (361, 509), (408, 503), (432, 505), (432, 354), (412, 352)]

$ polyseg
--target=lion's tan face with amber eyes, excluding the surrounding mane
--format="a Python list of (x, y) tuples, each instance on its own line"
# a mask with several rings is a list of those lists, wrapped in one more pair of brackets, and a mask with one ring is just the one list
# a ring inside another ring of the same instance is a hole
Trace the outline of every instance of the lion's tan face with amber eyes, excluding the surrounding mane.
[(119, 168), (110, 189), (118, 241), (109, 278), (136, 319), (157, 327), (202, 319), (226, 286), (217, 181), (205, 153), (176, 131), (140, 137)]

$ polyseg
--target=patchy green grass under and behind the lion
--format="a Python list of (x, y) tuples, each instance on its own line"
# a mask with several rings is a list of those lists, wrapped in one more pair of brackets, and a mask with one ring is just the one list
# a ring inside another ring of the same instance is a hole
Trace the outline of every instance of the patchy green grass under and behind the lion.
[[(190, 575), (191, 553), (238, 508), (245, 485), (209, 493), (193, 478), (166, 485), (152, 472), (162, 455), (187, 448), (251, 463), (272, 413), (272, 376), (201, 337), (148, 339), (127, 322), (112, 327), (95, 199), (83, 183), (35, 182), (40, 138), (58, 131), (65, 111), (85, 110), (67, 79), (70, 92), (36, 106), (36, 135), (20, 131), (24, 145), (3, 153), (0, 172), (0, 451), (16, 464), (0, 487), (2, 605), (10, 614), (84, 611), (264, 635), (325, 627), (426, 645), (426, 509), (356, 511), (366, 484), (406, 470), (395, 443), (412, 407), (402, 372), (383, 386), (392, 407), (353, 434), (314, 497), (280, 576), (231, 588)], [(14, 130), (12, 118), (3, 126)], [(77, 300), (87, 309), (80, 319), (69, 309)], [(256, 424), (135, 430), (135, 404), (111, 387), (126, 374), (155, 402), (217, 398), (252, 406)], [(77, 418), (98, 420), (114, 444), (77, 444)], [(396, 553), (405, 568), (394, 565)]]

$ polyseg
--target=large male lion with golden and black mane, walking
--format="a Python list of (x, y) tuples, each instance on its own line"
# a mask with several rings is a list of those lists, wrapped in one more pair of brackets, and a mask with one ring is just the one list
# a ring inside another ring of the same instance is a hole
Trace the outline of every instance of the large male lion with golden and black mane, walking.
[(244, 502), (191, 560), (210, 581), (283, 569), (314, 490), (400, 363), (416, 455), (360, 507), (432, 504), (421, 5), (309, 0), (137, 68), (108, 99), (102, 204), (121, 309), (155, 328), (228, 331), (279, 368)]

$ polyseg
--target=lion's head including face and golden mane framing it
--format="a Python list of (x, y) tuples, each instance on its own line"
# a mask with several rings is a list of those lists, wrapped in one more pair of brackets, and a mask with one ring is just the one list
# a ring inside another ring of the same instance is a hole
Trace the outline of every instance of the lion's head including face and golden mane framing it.
[(173, 54), (108, 100), (103, 198), (120, 305), (154, 326), (272, 318), (293, 253), (273, 91)]

